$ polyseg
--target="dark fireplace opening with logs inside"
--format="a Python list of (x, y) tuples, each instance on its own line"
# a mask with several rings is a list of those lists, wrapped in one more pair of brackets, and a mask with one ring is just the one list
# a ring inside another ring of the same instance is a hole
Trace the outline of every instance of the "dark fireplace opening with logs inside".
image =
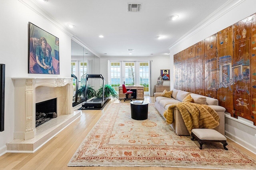
[(57, 117), (57, 98), (36, 103), (36, 127)]

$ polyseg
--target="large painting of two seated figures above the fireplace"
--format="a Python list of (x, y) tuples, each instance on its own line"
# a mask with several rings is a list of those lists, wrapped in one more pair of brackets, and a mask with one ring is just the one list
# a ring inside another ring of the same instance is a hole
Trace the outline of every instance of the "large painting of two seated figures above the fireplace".
[(60, 74), (59, 39), (28, 23), (28, 73)]

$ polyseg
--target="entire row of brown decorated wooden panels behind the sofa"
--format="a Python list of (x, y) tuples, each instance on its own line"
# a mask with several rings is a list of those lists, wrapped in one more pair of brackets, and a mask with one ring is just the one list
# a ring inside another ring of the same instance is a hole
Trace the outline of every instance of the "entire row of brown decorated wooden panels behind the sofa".
[(177, 89), (217, 98), (231, 116), (256, 125), (256, 14), (177, 56), (182, 57), (174, 60)]

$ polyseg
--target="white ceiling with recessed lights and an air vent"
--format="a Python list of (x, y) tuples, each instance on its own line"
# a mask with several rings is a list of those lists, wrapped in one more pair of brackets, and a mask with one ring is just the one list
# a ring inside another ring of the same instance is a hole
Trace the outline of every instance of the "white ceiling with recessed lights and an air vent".
[[(232, 1), (238, 0), (33, 0), (98, 57), (168, 56), (180, 37)], [(142, 4), (141, 12), (127, 12), (128, 3)]]

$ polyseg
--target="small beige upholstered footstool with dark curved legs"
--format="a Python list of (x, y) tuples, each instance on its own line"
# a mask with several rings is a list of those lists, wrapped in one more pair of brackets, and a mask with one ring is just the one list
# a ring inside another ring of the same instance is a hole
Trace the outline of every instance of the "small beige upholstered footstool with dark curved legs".
[(226, 146), (228, 145), (227, 139), (224, 135), (219, 133), (214, 129), (192, 129), (191, 140), (196, 139), (202, 149), (202, 145), (208, 142), (221, 142), (225, 150), (228, 150)]

